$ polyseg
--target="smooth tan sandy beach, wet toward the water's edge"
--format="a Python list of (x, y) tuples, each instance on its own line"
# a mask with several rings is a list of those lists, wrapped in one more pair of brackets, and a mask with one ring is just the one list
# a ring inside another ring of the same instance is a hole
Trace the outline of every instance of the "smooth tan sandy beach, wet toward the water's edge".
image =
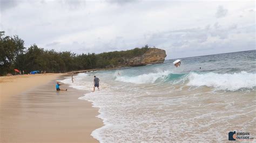
[(78, 99), (81, 90), (57, 92), (56, 80), (64, 76), (0, 78), (0, 142), (98, 142), (90, 135), (103, 125), (98, 109)]

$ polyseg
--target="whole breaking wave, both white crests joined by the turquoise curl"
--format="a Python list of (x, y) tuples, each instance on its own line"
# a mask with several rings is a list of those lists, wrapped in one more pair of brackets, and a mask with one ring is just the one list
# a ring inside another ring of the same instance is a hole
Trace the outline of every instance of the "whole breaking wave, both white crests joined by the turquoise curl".
[[(185, 75), (185, 76), (184, 76)], [(188, 86), (206, 86), (217, 90), (235, 91), (240, 89), (253, 89), (256, 86), (256, 74), (241, 71), (234, 74), (217, 73), (189, 73), (172, 74), (165, 70), (158, 73), (142, 74), (138, 76), (116, 76), (116, 81), (133, 84), (153, 84), (183, 78)]]

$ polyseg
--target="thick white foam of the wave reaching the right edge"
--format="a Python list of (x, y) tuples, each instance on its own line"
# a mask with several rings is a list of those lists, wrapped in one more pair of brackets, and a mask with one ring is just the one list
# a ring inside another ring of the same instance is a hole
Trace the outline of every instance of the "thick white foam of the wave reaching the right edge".
[(256, 74), (247, 73), (245, 71), (234, 74), (190, 73), (188, 80), (187, 85), (214, 87), (218, 90), (235, 91), (242, 88), (252, 89), (256, 86)]

